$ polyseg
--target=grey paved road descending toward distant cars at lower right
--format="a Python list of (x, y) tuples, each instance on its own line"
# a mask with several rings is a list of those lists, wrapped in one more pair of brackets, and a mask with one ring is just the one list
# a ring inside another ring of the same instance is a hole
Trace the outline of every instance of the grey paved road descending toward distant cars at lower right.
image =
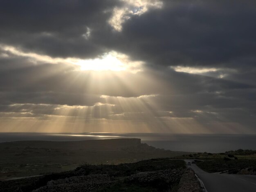
[(207, 192), (256, 192), (256, 175), (207, 173), (195, 164), (188, 167), (202, 180)]

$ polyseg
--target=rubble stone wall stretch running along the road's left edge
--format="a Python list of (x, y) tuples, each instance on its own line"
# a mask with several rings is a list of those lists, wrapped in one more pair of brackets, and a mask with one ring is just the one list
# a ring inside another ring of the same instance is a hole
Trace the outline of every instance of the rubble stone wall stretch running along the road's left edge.
[(177, 192), (202, 192), (200, 182), (191, 168), (187, 168), (182, 174)]

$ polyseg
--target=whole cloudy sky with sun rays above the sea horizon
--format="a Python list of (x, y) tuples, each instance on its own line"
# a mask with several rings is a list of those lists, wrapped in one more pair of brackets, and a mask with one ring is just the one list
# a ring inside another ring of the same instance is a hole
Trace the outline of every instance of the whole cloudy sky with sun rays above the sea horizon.
[(255, 0), (0, 0), (0, 132), (256, 133)]

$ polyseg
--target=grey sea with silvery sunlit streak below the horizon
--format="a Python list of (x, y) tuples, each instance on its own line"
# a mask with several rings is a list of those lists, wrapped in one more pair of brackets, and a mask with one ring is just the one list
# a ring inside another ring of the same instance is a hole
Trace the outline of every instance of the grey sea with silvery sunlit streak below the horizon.
[(219, 153), (256, 150), (256, 134), (160, 134), (160, 133), (35, 133), (0, 132), (0, 143), (10, 141), (81, 141), (91, 139), (140, 138), (156, 148), (183, 152)]

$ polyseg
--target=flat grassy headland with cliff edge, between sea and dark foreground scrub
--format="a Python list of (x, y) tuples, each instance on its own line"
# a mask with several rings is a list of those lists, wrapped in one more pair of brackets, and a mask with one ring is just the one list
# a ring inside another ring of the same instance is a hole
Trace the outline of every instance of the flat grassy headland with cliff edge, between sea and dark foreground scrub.
[(171, 152), (141, 144), (140, 140), (81, 142), (28, 141), (0, 143), (0, 179), (73, 170), (83, 164), (116, 165), (153, 158), (174, 157)]

